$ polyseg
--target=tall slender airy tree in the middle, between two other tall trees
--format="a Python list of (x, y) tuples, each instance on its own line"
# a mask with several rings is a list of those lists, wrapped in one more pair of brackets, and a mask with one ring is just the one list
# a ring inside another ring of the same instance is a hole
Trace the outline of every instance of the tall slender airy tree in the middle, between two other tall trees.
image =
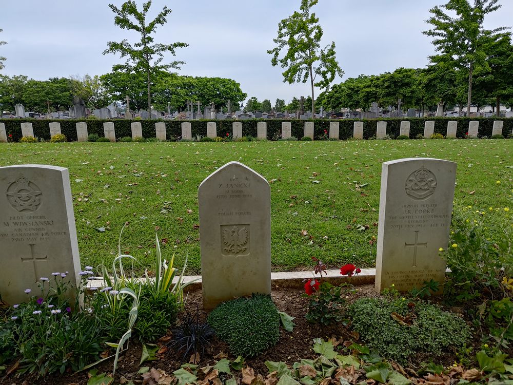
[[(312, 111), (315, 111), (314, 86), (329, 89), (335, 75), (342, 76), (343, 71), (335, 59), (335, 43), (331, 42), (321, 49), (320, 41), (323, 31), (319, 18), (310, 13), (310, 8), (319, 0), (301, 0), (301, 12), (295, 11), (278, 24), (278, 37), (273, 39), (277, 44), (267, 53), (272, 54), (271, 64), (281, 64), (286, 68), (282, 73), (284, 82), (306, 83), (310, 79)], [(287, 47), (287, 48), (286, 48)], [(280, 52), (285, 49), (285, 55), (279, 59)], [(321, 79), (315, 83), (319, 76)]]

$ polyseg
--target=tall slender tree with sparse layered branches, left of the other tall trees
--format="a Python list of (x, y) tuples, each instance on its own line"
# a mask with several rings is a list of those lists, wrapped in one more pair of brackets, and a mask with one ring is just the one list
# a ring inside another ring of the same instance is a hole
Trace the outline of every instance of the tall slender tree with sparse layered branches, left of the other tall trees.
[(151, 6), (151, 0), (143, 4), (143, 10), (139, 11), (133, 0), (123, 3), (120, 8), (109, 4), (110, 9), (115, 13), (114, 24), (121, 29), (128, 29), (139, 32), (141, 40), (133, 46), (126, 39), (122, 42), (108, 42), (109, 46), (103, 54), (119, 52), (121, 57), (127, 56), (124, 65), (112, 67), (113, 71), (124, 69), (126, 71), (144, 72), (146, 74), (146, 84), (148, 87), (148, 119), (151, 119), (151, 78), (157, 70), (168, 70), (170, 68), (180, 69), (179, 65), (185, 62), (173, 61), (169, 64), (161, 64), (165, 52), (171, 52), (176, 56), (176, 48), (187, 47), (185, 43), (162, 44), (154, 43), (152, 34), (155, 33), (157, 26), (164, 25), (167, 22), (166, 16), (171, 10), (164, 6), (161, 12), (149, 23), (146, 22), (146, 16)]

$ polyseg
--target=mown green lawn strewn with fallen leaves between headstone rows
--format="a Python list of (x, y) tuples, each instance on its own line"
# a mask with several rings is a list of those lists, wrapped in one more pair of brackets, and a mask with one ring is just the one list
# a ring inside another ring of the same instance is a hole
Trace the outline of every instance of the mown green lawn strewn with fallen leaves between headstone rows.
[(284, 271), (312, 256), (330, 267), (374, 266), (381, 163), (409, 157), (458, 163), (457, 207), (512, 207), (513, 140), (0, 145), (0, 165), (69, 168), (83, 265), (110, 264), (130, 222), (124, 253), (151, 268), (156, 233), (165, 258), (176, 253), (180, 266), (188, 255), (189, 274), (200, 273), (198, 186), (226, 162), (270, 182), (272, 266)]

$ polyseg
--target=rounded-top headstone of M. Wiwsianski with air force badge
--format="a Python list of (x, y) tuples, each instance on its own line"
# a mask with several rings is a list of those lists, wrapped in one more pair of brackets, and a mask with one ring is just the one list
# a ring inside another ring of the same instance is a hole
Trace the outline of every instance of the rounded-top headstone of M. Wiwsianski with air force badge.
[(40, 278), (80, 272), (68, 169), (24, 165), (0, 167), (0, 294), (8, 304), (24, 302)]

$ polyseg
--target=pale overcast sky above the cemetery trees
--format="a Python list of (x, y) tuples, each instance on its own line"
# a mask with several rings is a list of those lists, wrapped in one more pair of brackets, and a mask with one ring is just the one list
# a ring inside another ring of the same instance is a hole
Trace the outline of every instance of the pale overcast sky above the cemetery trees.
[[(120, 63), (119, 56), (102, 55), (108, 41), (137, 36), (114, 26), (109, 1), (1, 0), (0, 47), (7, 75), (24, 74), (47, 80), (54, 76), (101, 75)], [(121, 6), (122, 0), (111, 0)], [(142, 4), (142, 0), (136, 0)], [(420, 68), (433, 54), (427, 29), (428, 10), (445, 0), (319, 0), (312, 10), (324, 30), (322, 45), (336, 43), (343, 79), (379, 74), (399, 67)], [(7, 5), (9, 3), (9, 5)], [(513, 24), (513, 0), (487, 15), (485, 27)], [(300, 0), (153, 0), (150, 16), (164, 5), (173, 10), (159, 27), (156, 42), (184, 42), (176, 60), (186, 61), (178, 72), (192, 76), (220, 76), (241, 84), (248, 97), (277, 98), (310, 93), (309, 84), (283, 83), (282, 68), (272, 67), (278, 23), (299, 10)], [(169, 57), (172, 60), (172, 56)], [(341, 79), (337, 78), (336, 83)], [(317, 95), (317, 93), (316, 93)]]

